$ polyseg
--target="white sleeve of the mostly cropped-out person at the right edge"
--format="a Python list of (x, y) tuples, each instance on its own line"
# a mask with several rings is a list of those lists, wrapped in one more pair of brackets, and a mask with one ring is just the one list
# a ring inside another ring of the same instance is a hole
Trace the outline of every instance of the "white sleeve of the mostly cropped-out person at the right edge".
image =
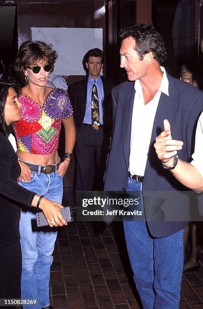
[(191, 164), (195, 166), (203, 177), (203, 112), (201, 113), (196, 127), (194, 153)]

